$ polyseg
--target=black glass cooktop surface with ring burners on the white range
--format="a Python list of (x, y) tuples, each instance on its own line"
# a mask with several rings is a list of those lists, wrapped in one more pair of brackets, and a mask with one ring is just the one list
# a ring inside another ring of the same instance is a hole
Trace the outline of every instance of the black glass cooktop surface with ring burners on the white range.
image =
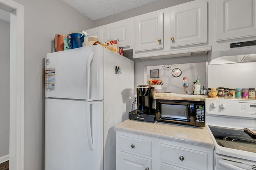
[(242, 129), (209, 126), (218, 145), (231, 149), (256, 153), (256, 139), (250, 137)]

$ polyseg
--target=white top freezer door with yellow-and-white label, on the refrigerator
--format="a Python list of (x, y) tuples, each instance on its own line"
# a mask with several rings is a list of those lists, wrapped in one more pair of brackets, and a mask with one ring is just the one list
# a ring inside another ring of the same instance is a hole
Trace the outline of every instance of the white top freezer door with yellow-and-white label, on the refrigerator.
[(45, 96), (103, 100), (103, 55), (101, 45), (48, 53), (45, 59)]

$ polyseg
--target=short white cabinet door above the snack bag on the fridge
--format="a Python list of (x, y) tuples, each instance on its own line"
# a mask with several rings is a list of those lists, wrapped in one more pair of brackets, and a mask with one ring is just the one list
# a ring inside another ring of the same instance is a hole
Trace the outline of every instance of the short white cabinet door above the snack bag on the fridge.
[(130, 20), (118, 21), (106, 25), (105, 40), (119, 39), (119, 47), (130, 46)]

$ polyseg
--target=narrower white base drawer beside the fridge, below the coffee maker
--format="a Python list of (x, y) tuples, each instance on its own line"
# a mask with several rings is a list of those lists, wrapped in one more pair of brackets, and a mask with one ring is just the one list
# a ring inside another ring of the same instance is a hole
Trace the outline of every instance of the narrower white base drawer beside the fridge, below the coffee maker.
[(152, 142), (139, 138), (118, 135), (118, 149), (146, 156), (152, 156)]

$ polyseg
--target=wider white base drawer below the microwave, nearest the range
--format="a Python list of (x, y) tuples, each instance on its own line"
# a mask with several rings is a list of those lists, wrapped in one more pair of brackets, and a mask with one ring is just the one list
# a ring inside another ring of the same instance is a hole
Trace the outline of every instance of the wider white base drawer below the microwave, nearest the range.
[(207, 153), (170, 145), (160, 145), (160, 160), (181, 167), (207, 170)]

